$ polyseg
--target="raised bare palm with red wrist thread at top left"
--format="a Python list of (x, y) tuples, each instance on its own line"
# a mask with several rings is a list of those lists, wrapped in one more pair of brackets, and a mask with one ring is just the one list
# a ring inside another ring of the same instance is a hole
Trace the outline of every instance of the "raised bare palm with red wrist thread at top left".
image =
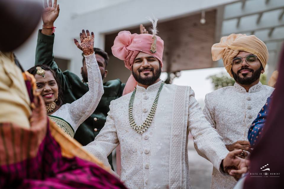
[(59, 4), (57, 5), (57, 0), (54, 0), (52, 5), (52, 0), (44, 0), (44, 9), (42, 11), (42, 21), (44, 27), (52, 28), (54, 21), (59, 15)]

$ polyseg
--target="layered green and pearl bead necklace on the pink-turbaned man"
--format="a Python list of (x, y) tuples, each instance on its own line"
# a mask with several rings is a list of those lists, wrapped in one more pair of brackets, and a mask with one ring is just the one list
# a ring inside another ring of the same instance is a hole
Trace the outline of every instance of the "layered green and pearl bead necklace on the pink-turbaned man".
[(132, 110), (133, 110), (133, 102), (134, 102), (134, 97), (135, 97), (135, 93), (136, 93), (136, 87), (135, 89), (133, 90), (132, 94), (131, 94), (131, 97), (130, 97), (130, 100), (129, 100), (129, 105), (128, 105), (128, 118), (129, 118), (129, 123), (130, 123), (130, 126), (135, 130), (137, 131), (137, 133), (139, 134), (142, 134), (144, 133), (145, 131), (148, 130), (149, 126), (151, 125), (152, 123), (152, 120), (153, 120), (153, 117), (154, 117), (154, 114), (156, 112), (156, 108), (157, 108), (157, 105), (158, 105), (158, 100), (159, 100), (159, 96), (160, 96), (160, 92), (162, 90), (164, 86), (164, 82), (161, 83), (161, 86), (159, 87), (159, 90), (156, 94), (156, 97), (155, 97), (155, 100), (153, 102), (153, 105), (151, 107), (151, 110), (150, 110), (150, 113), (148, 114), (146, 120), (143, 122), (142, 125), (138, 126), (135, 121), (134, 121), (134, 118), (133, 118), (133, 114), (132, 114)]

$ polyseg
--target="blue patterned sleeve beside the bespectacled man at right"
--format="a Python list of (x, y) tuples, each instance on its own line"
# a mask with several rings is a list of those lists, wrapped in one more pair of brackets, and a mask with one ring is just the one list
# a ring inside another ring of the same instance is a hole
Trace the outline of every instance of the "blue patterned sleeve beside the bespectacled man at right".
[(260, 110), (256, 119), (252, 122), (251, 128), (249, 129), (248, 139), (249, 143), (251, 144), (251, 147), (254, 147), (259, 141), (259, 138), (261, 137), (262, 128), (265, 125), (265, 121), (270, 110), (272, 94), (270, 95), (270, 97), (267, 98), (265, 105)]

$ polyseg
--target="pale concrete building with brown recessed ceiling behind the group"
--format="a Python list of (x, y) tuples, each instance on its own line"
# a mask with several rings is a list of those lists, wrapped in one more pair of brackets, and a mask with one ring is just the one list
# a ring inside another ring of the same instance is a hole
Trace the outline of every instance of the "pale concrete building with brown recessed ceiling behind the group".
[[(283, 0), (58, 0), (60, 14), (55, 22), (54, 56), (62, 69), (80, 75), (82, 56), (73, 43), (82, 29), (95, 34), (95, 46), (110, 56), (106, 80), (126, 82), (130, 72), (112, 56), (111, 46), (121, 30), (139, 32), (139, 24), (149, 26), (145, 18), (159, 19), (159, 36), (164, 40), (163, 71), (201, 69), (222, 66), (213, 62), (211, 46), (231, 33), (254, 34), (269, 49), (269, 75), (277, 67), (284, 39)], [(41, 28), (42, 23), (38, 25)], [(16, 55), (25, 69), (34, 64), (37, 31)]]

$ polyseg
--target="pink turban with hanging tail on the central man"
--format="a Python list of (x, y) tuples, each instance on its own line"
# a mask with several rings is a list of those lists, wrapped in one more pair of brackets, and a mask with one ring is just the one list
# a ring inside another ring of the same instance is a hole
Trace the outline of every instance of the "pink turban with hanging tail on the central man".
[[(118, 33), (114, 39), (114, 44), (112, 46), (112, 54), (123, 60), (125, 67), (132, 71), (132, 65), (134, 59), (139, 52), (147, 53), (151, 56), (156, 57), (163, 67), (163, 51), (164, 51), (164, 41), (156, 35), (156, 53), (151, 53), (151, 45), (153, 43), (153, 35), (151, 34), (131, 34), (129, 31), (121, 31)], [(129, 77), (126, 82), (125, 88), (123, 90), (123, 95), (127, 94), (134, 90), (134, 87), (137, 85), (133, 75)]]

